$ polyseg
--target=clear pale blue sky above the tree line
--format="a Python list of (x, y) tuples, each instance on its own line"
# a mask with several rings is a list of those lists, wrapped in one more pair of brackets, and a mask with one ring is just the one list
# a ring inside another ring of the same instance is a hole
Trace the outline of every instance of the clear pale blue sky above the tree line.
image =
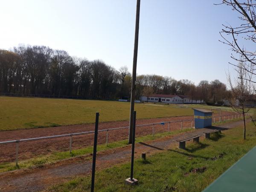
[[(223, 23), (237, 15), (221, 0), (141, 0), (138, 74), (227, 82)], [(132, 70), (136, 0), (8, 0), (0, 6), (0, 48), (46, 45)]]

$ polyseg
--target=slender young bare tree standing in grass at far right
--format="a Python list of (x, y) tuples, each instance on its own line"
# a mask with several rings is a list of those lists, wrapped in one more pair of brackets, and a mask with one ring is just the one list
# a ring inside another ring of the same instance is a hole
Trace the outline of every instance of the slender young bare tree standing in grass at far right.
[[(241, 58), (242, 60), (243, 58)], [(239, 62), (235, 67), (237, 77), (232, 80), (230, 73), (227, 73), (227, 81), (230, 85), (232, 99), (230, 99), (230, 105), (234, 111), (243, 114), (244, 120), (244, 140), (246, 139), (246, 127), (245, 127), (245, 113), (250, 110), (250, 106), (247, 106), (247, 101), (250, 99), (253, 93), (253, 84), (251, 82), (252, 73), (250, 67), (245, 62)]]

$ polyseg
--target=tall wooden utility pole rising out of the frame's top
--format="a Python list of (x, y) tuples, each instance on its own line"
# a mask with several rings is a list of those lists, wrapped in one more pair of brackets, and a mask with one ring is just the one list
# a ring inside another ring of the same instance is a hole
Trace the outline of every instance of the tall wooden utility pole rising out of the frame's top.
[(133, 59), (132, 82), (131, 82), (129, 144), (132, 143), (132, 132), (133, 132), (133, 121), (134, 121), (133, 116), (134, 116), (134, 98), (135, 98), (135, 90), (136, 90), (136, 69), (137, 69), (137, 56), (138, 56), (139, 24), (140, 24), (140, 0), (137, 0), (135, 38), (134, 38), (134, 59)]

